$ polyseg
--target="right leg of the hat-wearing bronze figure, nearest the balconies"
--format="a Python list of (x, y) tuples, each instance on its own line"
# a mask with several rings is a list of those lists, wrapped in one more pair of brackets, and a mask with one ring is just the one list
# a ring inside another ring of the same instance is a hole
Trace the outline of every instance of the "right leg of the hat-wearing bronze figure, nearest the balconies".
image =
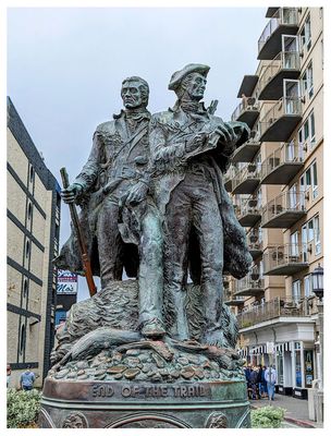
[(200, 198), (194, 204), (194, 227), (200, 247), (201, 298), (206, 319), (205, 340), (222, 341), (221, 312), (223, 299), (223, 229), (219, 205), (212, 185), (200, 190)]

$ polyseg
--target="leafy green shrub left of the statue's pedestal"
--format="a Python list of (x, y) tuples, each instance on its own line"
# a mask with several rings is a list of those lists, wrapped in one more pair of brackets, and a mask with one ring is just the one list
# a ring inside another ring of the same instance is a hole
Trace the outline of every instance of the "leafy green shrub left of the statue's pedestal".
[(19, 428), (38, 420), (41, 392), (32, 390), (7, 390), (7, 426)]

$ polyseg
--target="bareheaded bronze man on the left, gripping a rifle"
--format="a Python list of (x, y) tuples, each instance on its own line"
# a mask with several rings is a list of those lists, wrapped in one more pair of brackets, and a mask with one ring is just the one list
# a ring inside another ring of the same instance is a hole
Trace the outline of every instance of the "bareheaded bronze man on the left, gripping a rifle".
[[(162, 235), (158, 214), (150, 201), (148, 205), (144, 204), (136, 238), (131, 234), (125, 238), (125, 228), (122, 238), (119, 226), (121, 204), (125, 203), (126, 207), (139, 204), (148, 191), (148, 84), (137, 76), (125, 78), (121, 96), (125, 109), (113, 116), (114, 121), (98, 125), (87, 162), (61, 195), (65, 203), (76, 201), (82, 205), (81, 220), (85, 225), (91, 265), (94, 272), (100, 275), (101, 288), (121, 280), (123, 266), (128, 277), (138, 276), (142, 332), (146, 337), (158, 337), (166, 334), (161, 314)], [(143, 243), (139, 243), (140, 239)], [(124, 244), (124, 241), (131, 243)], [(56, 264), (79, 272), (81, 259), (76, 253), (73, 232)]]

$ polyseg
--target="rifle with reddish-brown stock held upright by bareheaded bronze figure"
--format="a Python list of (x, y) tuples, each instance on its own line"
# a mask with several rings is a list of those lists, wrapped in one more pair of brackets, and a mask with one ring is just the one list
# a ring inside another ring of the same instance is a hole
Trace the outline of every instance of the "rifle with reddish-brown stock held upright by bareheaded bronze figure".
[[(60, 173), (61, 173), (61, 178), (62, 178), (63, 187), (66, 190), (66, 187), (69, 186), (69, 177), (68, 177), (68, 172), (64, 167), (60, 169)], [(78, 245), (79, 245), (81, 256), (82, 256), (82, 262), (83, 262), (83, 268), (85, 271), (85, 278), (87, 281), (89, 294), (90, 294), (90, 296), (93, 296), (97, 293), (97, 287), (95, 284), (94, 278), (93, 278), (90, 261), (88, 258), (87, 249), (86, 249), (84, 234), (83, 234), (81, 223), (79, 223), (77, 209), (73, 203), (69, 204), (69, 208), (70, 208), (71, 220), (73, 222), (74, 229), (77, 234), (77, 240), (78, 240)]]

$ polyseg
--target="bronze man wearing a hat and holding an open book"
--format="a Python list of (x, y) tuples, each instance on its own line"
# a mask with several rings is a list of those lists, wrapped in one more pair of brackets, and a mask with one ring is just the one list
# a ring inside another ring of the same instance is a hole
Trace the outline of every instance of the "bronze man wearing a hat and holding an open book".
[[(209, 66), (188, 64), (175, 72), (169, 89), (173, 109), (150, 122), (155, 198), (163, 218), (164, 298), (170, 335), (188, 339), (184, 307), (188, 265), (204, 296), (201, 342), (222, 344), (222, 275), (244, 277), (252, 263), (245, 233), (223, 187), (222, 172), (236, 146), (247, 141), (243, 123), (224, 123), (200, 101)], [(225, 249), (226, 247), (226, 249)]]

